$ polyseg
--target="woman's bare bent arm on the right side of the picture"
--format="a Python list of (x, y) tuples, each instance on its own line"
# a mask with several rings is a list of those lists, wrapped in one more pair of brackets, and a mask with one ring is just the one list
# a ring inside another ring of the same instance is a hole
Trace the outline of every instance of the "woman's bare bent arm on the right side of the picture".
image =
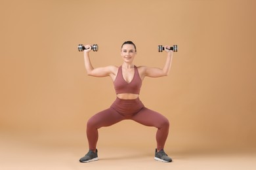
[(167, 48), (170, 48), (170, 46), (165, 46), (165, 52), (167, 52), (167, 58), (163, 68), (160, 69), (155, 67), (144, 67), (144, 76), (160, 77), (160, 76), (167, 76), (169, 74), (169, 71), (171, 69), (171, 61), (173, 58), (173, 51), (167, 50)]

